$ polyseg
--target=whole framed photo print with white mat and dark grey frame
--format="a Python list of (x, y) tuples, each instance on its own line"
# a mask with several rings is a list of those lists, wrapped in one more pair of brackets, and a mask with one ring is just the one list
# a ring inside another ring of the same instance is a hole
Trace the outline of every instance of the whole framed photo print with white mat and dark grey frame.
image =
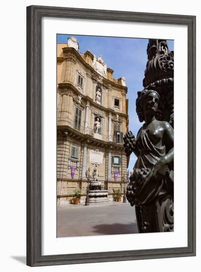
[(195, 37), (195, 16), (27, 7), (27, 265), (195, 256)]

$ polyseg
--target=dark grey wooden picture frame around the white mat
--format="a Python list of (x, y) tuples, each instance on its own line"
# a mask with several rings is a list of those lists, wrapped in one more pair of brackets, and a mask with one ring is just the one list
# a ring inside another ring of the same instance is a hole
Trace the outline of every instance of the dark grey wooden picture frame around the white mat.
[[(188, 27), (188, 246), (42, 255), (41, 21), (42, 17), (144, 22)], [(27, 7), (27, 265), (129, 261), (196, 255), (196, 16), (50, 6)]]

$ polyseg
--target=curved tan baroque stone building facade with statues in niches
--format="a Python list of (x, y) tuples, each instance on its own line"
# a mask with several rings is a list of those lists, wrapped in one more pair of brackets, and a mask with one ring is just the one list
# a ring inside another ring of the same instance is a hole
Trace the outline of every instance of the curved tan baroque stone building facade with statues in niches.
[(120, 189), (128, 159), (123, 135), (128, 131), (125, 79), (114, 79), (113, 70), (89, 50), (79, 52), (75, 38), (57, 44), (57, 203), (72, 199), (73, 190), (86, 198), (86, 171), (95, 164), (108, 199)]

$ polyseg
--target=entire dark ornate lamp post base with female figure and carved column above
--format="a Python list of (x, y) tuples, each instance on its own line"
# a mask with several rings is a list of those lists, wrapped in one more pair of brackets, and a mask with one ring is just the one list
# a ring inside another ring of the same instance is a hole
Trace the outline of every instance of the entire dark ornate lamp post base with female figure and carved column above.
[(150, 39), (136, 111), (145, 122), (137, 138), (124, 136), (127, 157), (137, 161), (126, 197), (135, 205), (139, 232), (174, 231), (174, 52), (166, 40)]

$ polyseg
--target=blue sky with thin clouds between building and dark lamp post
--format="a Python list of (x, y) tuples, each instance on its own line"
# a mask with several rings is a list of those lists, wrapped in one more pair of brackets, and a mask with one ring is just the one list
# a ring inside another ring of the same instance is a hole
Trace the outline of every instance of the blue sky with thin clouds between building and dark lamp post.
[[(97, 57), (101, 55), (107, 67), (110, 66), (114, 70), (113, 77), (126, 78), (127, 98), (129, 99), (129, 130), (137, 136), (143, 123), (138, 120), (135, 101), (137, 92), (144, 89), (143, 79), (147, 64), (148, 39), (58, 34), (57, 43), (67, 44), (68, 37), (72, 36), (77, 39), (81, 53), (90, 50)], [(168, 41), (168, 45), (170, 50), (174, 50), (174, 41)], [(132, 154), (129, 171), (133, 169), (136, 159), (136, 156)]]

